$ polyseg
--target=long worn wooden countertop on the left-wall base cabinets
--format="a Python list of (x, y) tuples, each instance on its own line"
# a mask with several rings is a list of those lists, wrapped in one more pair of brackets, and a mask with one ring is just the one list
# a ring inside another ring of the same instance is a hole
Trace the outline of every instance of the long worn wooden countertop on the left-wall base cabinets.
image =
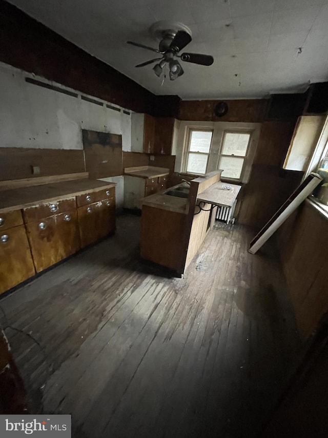
[(113, 182), (91, 179), (62, 181), (30, 187), (12, 188), (0, 191), (0, 212), (5, 213), (30, 207), (38, 202), (53, 202), (69, 195), (83, 195), (99, 189), (114, 187)]

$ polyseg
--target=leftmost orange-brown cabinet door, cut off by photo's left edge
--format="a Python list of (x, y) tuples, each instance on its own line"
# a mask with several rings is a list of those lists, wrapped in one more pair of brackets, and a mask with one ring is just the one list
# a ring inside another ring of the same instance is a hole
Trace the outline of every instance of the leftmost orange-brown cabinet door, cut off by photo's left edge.
[(24, 225), (0, 233), (0, 293), (35, 274)]

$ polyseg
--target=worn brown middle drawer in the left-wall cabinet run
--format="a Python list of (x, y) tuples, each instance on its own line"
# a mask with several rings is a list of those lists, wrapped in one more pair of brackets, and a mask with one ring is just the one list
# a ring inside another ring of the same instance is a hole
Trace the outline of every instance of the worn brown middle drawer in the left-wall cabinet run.
[(29, 223), (53, 216), (54, 214), (57, 215), (75, 209), (76, 201), (74, 196), (72, 198), (61, 199), (60, 201), (48, 202), (24, 208), (23, 216), (25, 223)]

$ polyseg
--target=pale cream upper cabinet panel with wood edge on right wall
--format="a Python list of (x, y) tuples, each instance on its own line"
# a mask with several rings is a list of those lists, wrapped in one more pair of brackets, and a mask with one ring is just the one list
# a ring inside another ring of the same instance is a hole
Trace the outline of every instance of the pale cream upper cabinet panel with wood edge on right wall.
[(298, 118), (283, 163), (284, 169), (306, 171), (320, 138), (325, 118), (325, 115), (301, 116)]

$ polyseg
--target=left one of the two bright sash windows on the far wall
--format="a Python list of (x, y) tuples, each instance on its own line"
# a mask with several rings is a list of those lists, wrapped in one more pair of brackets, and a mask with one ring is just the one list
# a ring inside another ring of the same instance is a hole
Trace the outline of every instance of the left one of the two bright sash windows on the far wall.
[(189, 130), (186, 170), (190, 174), (206, 174), (212, 131)]

